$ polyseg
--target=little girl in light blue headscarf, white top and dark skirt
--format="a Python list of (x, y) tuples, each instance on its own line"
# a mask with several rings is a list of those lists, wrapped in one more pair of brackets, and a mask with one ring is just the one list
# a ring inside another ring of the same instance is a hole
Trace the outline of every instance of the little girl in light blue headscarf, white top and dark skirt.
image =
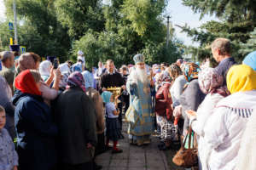
[(119, 150), (117, 148), (118, 139), (120, 136), (120, 124), (119, 124), (119, 110), (117, 110), (117, 99), (119, 96), (117, 96), (115, 99), (113, 98), (113, 94), (111, 92), (103, 92), (102, 93), (102, 99), (105, 103), (105, 109), (106, 109), (106, 146), (109, 147), (109, 140), (113, 141), (113, 150), (112, 153), (121, 153), (123, 150)]

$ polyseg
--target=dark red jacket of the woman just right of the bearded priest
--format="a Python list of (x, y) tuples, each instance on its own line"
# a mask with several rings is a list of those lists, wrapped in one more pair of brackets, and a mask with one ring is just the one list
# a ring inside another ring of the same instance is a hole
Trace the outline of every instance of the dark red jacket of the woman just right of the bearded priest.
[(159, 116), (166, 116), (168, 120), (172, 118), (172, 96), (169, 88), (171, 84), (164, 84), (155, 94), (155, 112)]

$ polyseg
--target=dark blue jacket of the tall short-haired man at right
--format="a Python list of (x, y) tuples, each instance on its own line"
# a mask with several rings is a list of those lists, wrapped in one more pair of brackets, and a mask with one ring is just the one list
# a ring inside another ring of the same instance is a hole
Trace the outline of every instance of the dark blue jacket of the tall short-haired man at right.
[(224, 77), (224, 86), (227, 86), (226, 77), (232, 65), (236, 65), (236, 61), (233, 57), (230, 57), (227, 59), (223, 59), (215, 68), (218, 74)]

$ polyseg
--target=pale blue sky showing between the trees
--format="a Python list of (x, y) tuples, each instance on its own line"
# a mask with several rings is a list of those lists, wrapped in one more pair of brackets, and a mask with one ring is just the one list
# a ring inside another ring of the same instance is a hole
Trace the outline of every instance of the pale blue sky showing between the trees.
[[(5, 7), (3, 0), (0, 0), (0, 20), (4, 20), (4, 12)], [(181, 33), (181, 29), (175, 25), (184, 26), (187, 23), (190, 27), (196, 28), (208, 20), (218, 20), (214, 16), (205, 16), (202, 20), (199, 20), (200, 14), (194, 14), (191, 8), (183, 6), (182, 0), (169, 0), (168, 6), (166, 8), (166, 14), (172, 17), (171, 20), (172, 25), (175, 27), (176, 37), (182, 40), (186, 45), (196, 45), (196, 43), (193, 43), (191, 39), (187, 37), (186, 33)]]

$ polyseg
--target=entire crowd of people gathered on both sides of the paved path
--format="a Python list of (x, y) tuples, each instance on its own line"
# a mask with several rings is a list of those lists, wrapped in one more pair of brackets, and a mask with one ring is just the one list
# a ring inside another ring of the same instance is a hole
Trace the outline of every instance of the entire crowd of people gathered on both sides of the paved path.
[(228, 39), (211, 48), (215, 68), (147, 65), (136, 54), (134, 65), (108, 59), (87, 69), (81, 51), (77, 63), (55, 67), (38, 54), (2, 52), (0, 170), (101, 169), (96, 156), (123, 152), (124, 120), (137, 147), (158, 134), (156, 150), (170, 150), (192, 128), (199, 169), (255, 169), (256, 52), (237, 64)]

